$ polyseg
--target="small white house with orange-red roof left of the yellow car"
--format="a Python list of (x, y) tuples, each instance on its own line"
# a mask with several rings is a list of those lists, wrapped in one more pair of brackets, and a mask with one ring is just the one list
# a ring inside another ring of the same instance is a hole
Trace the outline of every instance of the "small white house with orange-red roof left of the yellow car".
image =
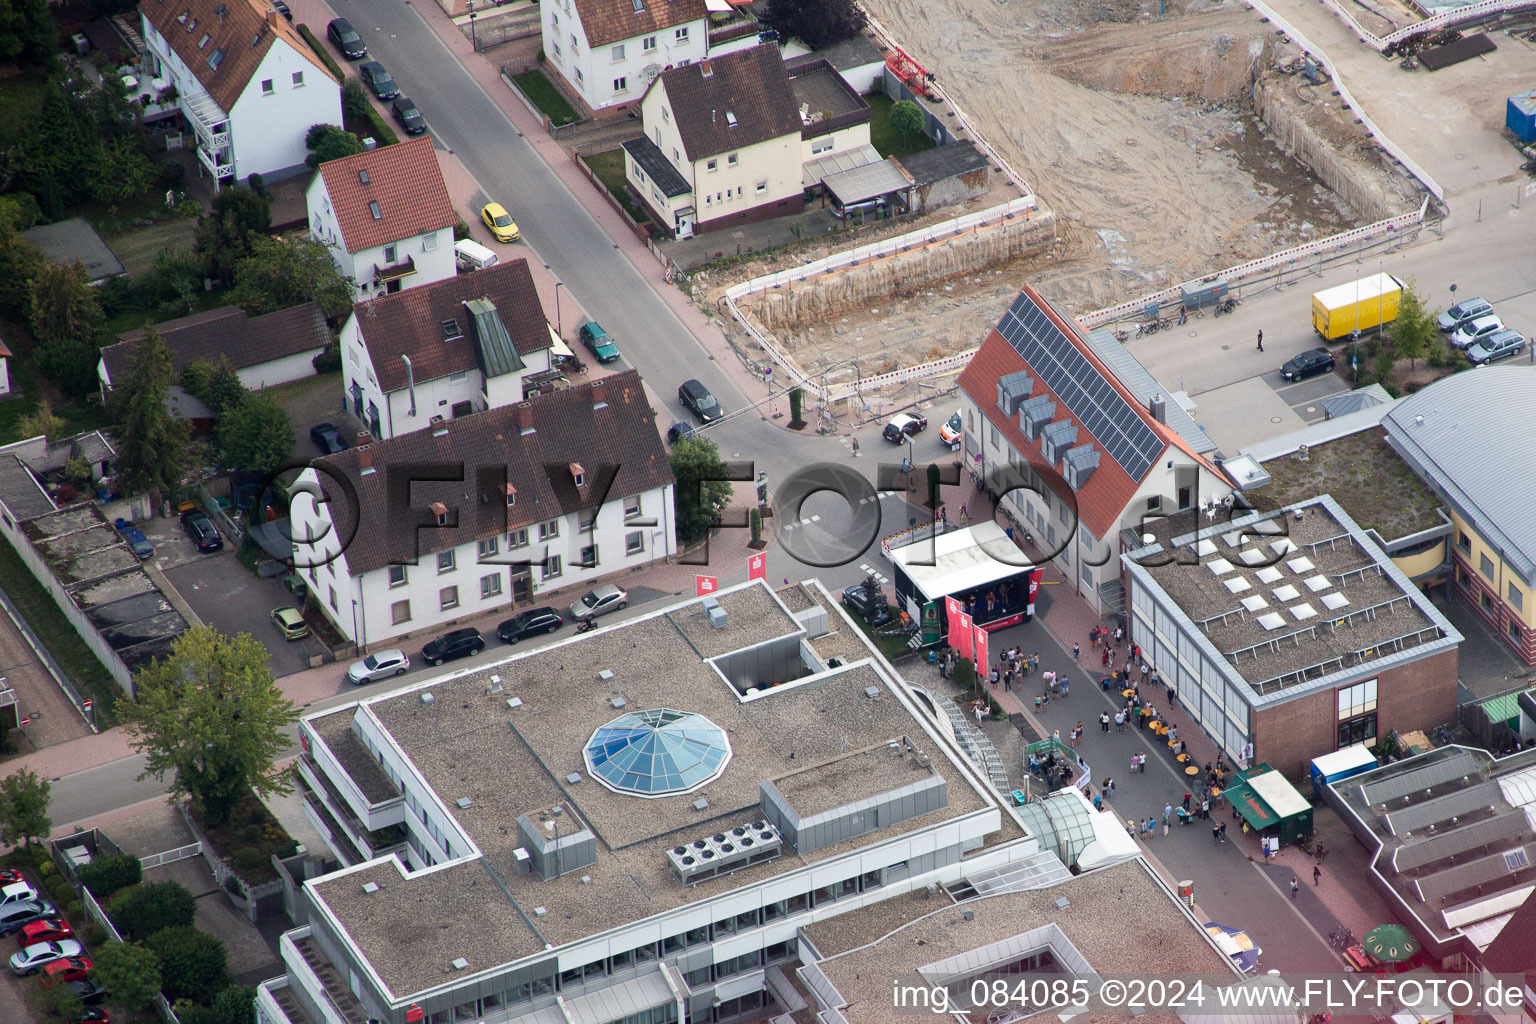
[(459, 215), (430, 138), (323, 163), (304, 201), (310, 238), (330, 247), (358, 301), (456, 273)]

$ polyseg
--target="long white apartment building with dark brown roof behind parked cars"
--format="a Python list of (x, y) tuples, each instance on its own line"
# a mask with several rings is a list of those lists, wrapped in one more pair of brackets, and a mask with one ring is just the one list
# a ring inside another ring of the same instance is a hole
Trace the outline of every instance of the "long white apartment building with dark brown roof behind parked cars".
[(671, 467), (633, 370), (359, 438), (300, 476), (290, 522), (296, 571), (359, 648), (677, 553)]

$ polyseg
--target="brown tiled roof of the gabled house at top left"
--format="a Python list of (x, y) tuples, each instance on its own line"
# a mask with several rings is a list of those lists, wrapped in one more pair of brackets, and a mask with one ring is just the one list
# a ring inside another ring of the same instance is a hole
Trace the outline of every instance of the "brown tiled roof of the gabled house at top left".
[[(341, 84), (292, 25), (276, 12), (267, 18), (267, 5), (261, 0), (143, 0), (138, 9), (166, 37), (170, 49), (224, 114), (235, 107), (276, 38), (298, 51), (326, 78)], [(223, 51), (223, 60), (214, 68), (209, 57), (217, 51)]]

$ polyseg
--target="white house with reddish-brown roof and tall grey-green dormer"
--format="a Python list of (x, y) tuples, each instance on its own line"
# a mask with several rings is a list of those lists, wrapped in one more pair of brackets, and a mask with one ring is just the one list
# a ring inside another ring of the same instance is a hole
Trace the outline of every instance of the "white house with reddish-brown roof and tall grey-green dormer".
[(379, 439), (513, 405), (558, 341), (525, 259), (382, 295), (341, 329), (344, 402)]

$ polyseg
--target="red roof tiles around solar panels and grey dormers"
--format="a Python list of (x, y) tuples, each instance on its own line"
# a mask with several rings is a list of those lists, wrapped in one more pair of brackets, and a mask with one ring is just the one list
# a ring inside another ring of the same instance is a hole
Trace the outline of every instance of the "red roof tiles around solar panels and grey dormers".
[[(1097, 368), (1106, 382), (1114, 387), (1124, 399), (1130, 408), (1137, 410), (1137, 415), (1152, 427), (1152, 430), (1163, 439), (1164, 444), (1178, 445), (1180, 450), (1186, 451), (1190, 457), (1200, 459), (1178, 434), (1167, 428), (1166, 425), (1157, 422), (1152, 415), (1143, 408), (1141, 402), (1135, 395), (1126, 388), (1120, 379), (1094, 355), (1094, 350), (1083, 341), (1081, 332), (1071, 318), (1058, 313), (1049, 302), (1046, 302), (1038, 292), (1025, 286), (1023, 293), (1044, 312), (1046, 316), (1055, 322), (1057, 327), (1066, 333), (1068, 338), (1074, 341), (1077, 348), (1087, 358), (1087, 361)], [(1063, 416), (1071, 419), (1078, 428), (1078, 442), (1081, 444), (1084, 438), (1094, 441), (1094, 444), (1103, 451), (1098, 461), (1098, 468), (1094, 470), (1087, 482), (1075, 494), (1068, 488), (1066, 481), (1060, 479), (1060, 471), (1051, 467), (1044, 456), (1040, 453), (1040, 442), (1029, 441), (1025, 431), (1018, 427), (1017, 416), (1005, 416), (1003, 410), (997, 407), (997, 379), (1009, 373), (1017, 373), (1018, 370), (1028, 370), (1034, 379), (1034, 388), (1029, 391), (1028, 398), (1038, 398), (1040, 395), (1051, 395), (1057, 402), (1057, 419)], [(1077, 418), (1077, 415), (1068, 408), (1066, 402), (1061, 401), (1058, 395), (1051, 391), (1040, 381), (1038, 372), (1025, 362), (1025, 358), (1008, 344), (1003, 338), (992, 329), (982, 342), (982, 347), (966, 364), (963, 373), (960, 373), (960, 387), (966, 395), (977, 404), (982, 410), (982, 416), (994, 424), (1003, 431), (1008, 442), (1023, 456), (1026, 456), (1041, 479), (1048, 481), (1051, 488), (1057, 491), (1057, 496), (1066, 502), (1075, 502), (1077, 514), (1083, 525), (1098, 539), (1106, 539), (1114, 530), (1118, 528), (1120, 520), (1124, 514), (1126, 504), (1135, 496), (1137, 490), (1141, 487), (1141, 481), (1134, 479), (1126, 473), (1118, 462), (1111, 457), (1109, 451), (1104, 451), (1104, 444), (1087, 430), (1087, 427)], [(1206, 462), (1204, 459), (1200, 459)], [(1155, 464), (1154, 464), (1155, 465)]]

